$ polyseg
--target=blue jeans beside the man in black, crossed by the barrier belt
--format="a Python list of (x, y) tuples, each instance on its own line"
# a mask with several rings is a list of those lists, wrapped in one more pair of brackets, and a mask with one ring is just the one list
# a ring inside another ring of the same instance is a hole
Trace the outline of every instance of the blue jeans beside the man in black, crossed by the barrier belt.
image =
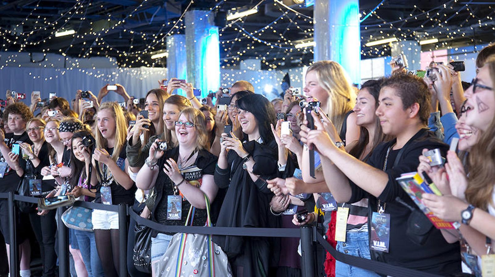
[[(337, 241), (337, 251), (347, 255), (371, 259), (368, 232), (347, 232), (346, 242)], [(380, 275), (345, 263), (335, 262), (335, 276), (339, 277), (380, 277)]]

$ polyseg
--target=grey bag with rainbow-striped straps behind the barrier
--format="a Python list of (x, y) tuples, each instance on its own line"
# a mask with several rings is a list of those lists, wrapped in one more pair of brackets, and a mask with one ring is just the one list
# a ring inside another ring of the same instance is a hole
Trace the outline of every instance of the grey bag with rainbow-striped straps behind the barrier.
[[(211, 227), (210, 202), (206, 201), (208, 219), (206, 226)], [(196, 208), (191, 206), (185, 226), (193, 222)], [(211, 235), (177, 233), (170, 240), (167, 251), (157, 263), (156, 276), (162, 277), (232, 277), (227, 255), (222, 248), (211, 240)]]

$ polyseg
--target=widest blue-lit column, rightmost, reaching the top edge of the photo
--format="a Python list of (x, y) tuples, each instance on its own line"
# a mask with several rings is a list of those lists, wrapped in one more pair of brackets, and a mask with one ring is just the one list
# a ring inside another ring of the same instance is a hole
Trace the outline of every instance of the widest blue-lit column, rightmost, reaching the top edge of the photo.
[(353, 83), (361, 83), (358, 0), (315, 0), (314, 61), (340, 63)]

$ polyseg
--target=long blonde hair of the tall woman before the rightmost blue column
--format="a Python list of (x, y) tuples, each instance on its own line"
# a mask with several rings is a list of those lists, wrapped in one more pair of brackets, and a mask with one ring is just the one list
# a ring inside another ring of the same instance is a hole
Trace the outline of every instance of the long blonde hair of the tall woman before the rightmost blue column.
[(344, 68), (334, 61), (318, 61), (313, 63), (306, 71), (316, 72), (320, 86), (328, 92), (326, 107), (321, 107), (340, 132), (344, 125), (346, 114), (352, 110), (355, 104), (355, 92), (349, 82)]

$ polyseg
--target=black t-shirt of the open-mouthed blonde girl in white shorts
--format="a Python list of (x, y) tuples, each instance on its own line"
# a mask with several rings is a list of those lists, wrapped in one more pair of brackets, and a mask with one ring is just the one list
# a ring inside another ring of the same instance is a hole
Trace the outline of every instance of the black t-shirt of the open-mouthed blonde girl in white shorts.
[[(105, 149), (108, 152), (108, 154), (112, 155), (113, 148), (105, 148)], [(120, 151), (119, 158), (117, 159), (117, 165), (120, 167), (120, 169), (122, 169), (122, 171), (125, 170), (126, 157), (127, 156), (125, 152), (125, 147), (123, 147), (122, 150)], [(117, 184), (117, 182), (111, 176), (110, 170), (108, 170), (105, 165), (102, 165), (102, 167), (103, 169), (100, 172), (101, 172), (101, 176), (103, 177), (103, 180), (108, 178), (112, 181), (110, 185), (110, 190), (112, 192), (112, 204), (117, 205), (117, 204), (125, 203), (132, 205), (134, 203), (134, 193), (136, 192), (136, 184), (133, 183), (132, 188), (126, 190), (124, 187)], [(98, 184), (97, 186), (96, 198), (95, 198), (95, 202), (97, 203), (101, 203), (101, 197), (99, 191), (100, 188), (101, 188), (101, 183)]]

